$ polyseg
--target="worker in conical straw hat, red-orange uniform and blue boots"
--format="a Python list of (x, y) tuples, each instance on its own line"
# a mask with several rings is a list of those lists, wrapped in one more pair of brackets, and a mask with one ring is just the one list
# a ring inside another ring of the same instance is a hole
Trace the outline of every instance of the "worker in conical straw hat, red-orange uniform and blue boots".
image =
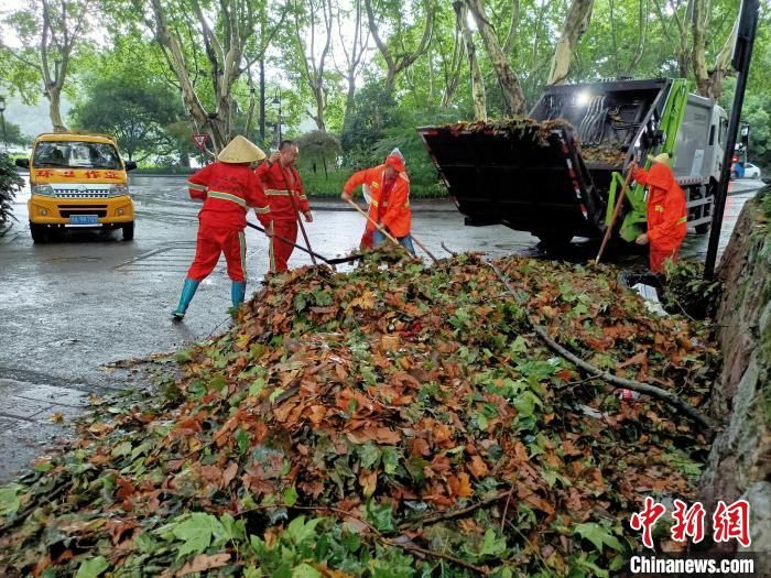
[(243, 228), (247, 211), (253, 208), (264, 225), (270, 222), (270, 207), (262, 192), (260, 179), (254, 176), (251, 163), (265, 157), (259, 146), (241, 135), (222, 149), (217, 162), (202, 168), (187, 181), (191, 198), (202, 199), (198, 212), (198, 236), (195, 260), (187, 271), (182, 296), (172, 312), (181, 320), (187, 312), (200, 282), (214, 270), (219, 254), (225, 253), (228, 275), (232, 281), (232, 306), (243, 303), (247, 291), (247, 246)]

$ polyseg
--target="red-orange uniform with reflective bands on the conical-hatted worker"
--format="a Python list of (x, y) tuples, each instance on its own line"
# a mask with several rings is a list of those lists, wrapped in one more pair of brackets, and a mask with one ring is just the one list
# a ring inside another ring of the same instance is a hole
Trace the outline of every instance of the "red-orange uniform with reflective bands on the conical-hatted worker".
[(187, 276), (203, 281), (214, 270), (219, 254), (225, 253), (228, 276), (246, 281), (247, 211), (254, 208), (261, 221), (268, 222), (270, 207), (262, 184), (249, 164), (213, 163), (187, 181), (191, 198), (204, 200), (198, 212), (195, 260)]

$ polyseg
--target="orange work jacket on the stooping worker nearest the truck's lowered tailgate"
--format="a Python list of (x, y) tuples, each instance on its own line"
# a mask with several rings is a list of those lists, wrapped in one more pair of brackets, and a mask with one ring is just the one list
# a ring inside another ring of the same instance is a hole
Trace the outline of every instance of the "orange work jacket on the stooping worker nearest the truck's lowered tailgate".
[[(360, 185), (369, 185), (372, 199), (369, 204), (369, 218), (381, 222), (397, 238), (406, 237), (412, 228), (412, 211), (410, 209), (410, 178), (400, 172), (393, 185), (386, 183), (386, 164), (365, 168), (354, 173), (343, 190), (351, 195)], [(367, 230), (373, 231), (374, 225), (367, 221)]]

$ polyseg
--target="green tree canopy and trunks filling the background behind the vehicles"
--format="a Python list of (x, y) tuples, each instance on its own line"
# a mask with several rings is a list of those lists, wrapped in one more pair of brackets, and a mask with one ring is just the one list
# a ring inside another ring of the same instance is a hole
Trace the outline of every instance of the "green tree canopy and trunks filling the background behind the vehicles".
[[(59, 128), (57, 99), (73, 95), (69, 120), (111, 127), (141, 156), (160, 154), (172, 122), (208, 133), (210, 153), (237, 133), (270, 144), (281, 124), (284, 135), (333, 134), (346, 162), (360, 164), (376, 160), (389, 130), (522, 114), (550, 83), (685, 77), (725, 102), (738, 9), (737, 0), (36, 0), (0, 12), (0, 85), (28, 102), (47, 97)], [(770, 20), (761, 12), (745, 112), (756, 134), (769, 131)], [(127, 127), (119, 102), (143, 129)]]

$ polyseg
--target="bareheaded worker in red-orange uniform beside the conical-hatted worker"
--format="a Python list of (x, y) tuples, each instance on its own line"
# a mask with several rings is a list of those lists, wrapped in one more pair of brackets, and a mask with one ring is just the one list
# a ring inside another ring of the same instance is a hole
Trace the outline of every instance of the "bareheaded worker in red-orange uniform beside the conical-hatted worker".
[(298, 211), (306, 222), (313, 222), (313, 214), (305, 196), (305, 187), (294, 163), (300, 149), (294, 141), (283, 141), (279, 150), (270, 155), (256, 171), (270, 203), (272, 231), (275, 235), (270, 242), (270, 271), (280, 273), (289, 269), (289, 260), (294, 247), (278, 239), (297, 240)]

